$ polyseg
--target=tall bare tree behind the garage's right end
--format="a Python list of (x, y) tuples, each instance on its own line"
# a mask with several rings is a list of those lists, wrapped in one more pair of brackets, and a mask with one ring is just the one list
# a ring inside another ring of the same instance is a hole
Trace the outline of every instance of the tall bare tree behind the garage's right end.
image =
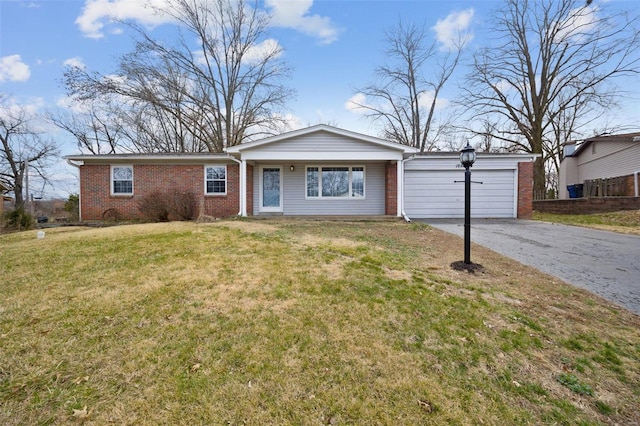
[(493, 137), (541, 154), (534, 189), (545, 190), (545, 162), (620, 96), (612, 83), (638, 73), (638, 18), (584, 0), (507, 0), (493, 22), (495, 45), (474, 58), (464, 103), (473, 118), (503, 125)]

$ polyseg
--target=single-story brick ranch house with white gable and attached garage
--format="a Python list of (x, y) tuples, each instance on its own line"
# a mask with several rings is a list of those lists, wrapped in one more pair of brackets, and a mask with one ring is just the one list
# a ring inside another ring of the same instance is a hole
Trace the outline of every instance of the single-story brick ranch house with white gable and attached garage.
[[(140, 216), (158, 190), (192, 191), (199, 214), (225, 216), (463, 217), (459, 153), (424, 153), (317, 125), (230, 147), (221, 154), (70, 155), (80, 170), (82, 220)], [(530, 217), (530, 154), (478, 154), (474, 217)]]

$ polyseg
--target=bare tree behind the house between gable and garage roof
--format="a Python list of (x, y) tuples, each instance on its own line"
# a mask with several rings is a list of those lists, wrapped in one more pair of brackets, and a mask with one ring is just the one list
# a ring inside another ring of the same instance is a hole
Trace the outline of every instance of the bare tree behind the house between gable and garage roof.
[(424, 26), (400, 22), (387, 32), (385, 50), (389, 63), (376, 69), (378, 82), (357, 92), (362, 102), (352, 103), (366, 111), (372, 122), (382, 123), (382, 136), (418, 148), (434, 148), (438, 98), (460, 62), (466, 37), (460, 35), (453, 49), (440, 49), (429, 40)]

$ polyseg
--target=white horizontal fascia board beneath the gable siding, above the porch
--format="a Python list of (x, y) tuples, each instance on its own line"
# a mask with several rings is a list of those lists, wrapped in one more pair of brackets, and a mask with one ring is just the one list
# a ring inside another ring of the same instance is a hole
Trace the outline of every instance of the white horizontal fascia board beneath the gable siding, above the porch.
[(246, 152), (245, 161), (402, 161), (402, 152)]

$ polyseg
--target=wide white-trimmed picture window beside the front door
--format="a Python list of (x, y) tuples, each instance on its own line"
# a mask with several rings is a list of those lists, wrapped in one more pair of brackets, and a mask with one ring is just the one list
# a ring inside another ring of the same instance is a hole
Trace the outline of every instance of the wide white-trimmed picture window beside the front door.
[(363, 166), (309, 166), (307, 198), (364, 198)]

